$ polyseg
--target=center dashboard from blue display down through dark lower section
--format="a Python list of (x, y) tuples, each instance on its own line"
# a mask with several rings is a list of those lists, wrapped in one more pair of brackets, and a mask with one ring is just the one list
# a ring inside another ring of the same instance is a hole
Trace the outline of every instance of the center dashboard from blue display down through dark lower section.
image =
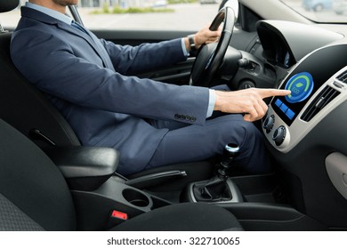
[(333, 227), (347, 216), (346, 54), (347, 44), (330, 44), (300, 60), (278, 86), (291, 94), (274, 97), (262, 120), (293, 205)]

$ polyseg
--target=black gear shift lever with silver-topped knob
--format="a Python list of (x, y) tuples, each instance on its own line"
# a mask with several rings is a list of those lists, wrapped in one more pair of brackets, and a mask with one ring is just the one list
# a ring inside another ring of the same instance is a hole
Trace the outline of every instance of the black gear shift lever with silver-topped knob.
[(221, 161), (222, 167), (218, 170), (218, 177), (220, 179), (226, 180), (228, 178), (228, 171), (230, 167), (232, 167), (232, 163), (235, 157), (238, 157), (239, 153), (239, 147), (237, 144), (228, 143), (225, 145)]

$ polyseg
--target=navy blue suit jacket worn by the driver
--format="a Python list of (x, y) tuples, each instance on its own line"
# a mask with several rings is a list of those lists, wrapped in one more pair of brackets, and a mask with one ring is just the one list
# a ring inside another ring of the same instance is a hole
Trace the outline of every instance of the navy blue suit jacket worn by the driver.
[(181, 39), (121, 46), (27, 7), (21, 15), (14, 64), (47, 93), (83, 145), (121, 152), (119, 173), (141, 171), (168, 132), (143, 117), (205, 124), (208, 89), (131, 76), (186, 60)]

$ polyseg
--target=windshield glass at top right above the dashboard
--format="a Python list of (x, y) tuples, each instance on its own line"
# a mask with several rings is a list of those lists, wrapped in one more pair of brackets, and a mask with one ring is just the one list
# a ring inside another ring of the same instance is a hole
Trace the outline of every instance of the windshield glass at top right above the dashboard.
[(347, 23), (347, 0), (279, 0), (315, 22)]

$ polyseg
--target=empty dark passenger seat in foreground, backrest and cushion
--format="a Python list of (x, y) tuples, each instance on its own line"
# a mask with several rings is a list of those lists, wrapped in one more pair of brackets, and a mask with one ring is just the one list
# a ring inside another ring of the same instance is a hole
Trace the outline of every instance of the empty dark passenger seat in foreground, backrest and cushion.
[[(74, 199), (60, 170), (0, 119), (0, 230), (75, 230)], [(93, 217), (90, 217), (93, 219)], [(216, 205), (183, 203), (143, 213), (111, 230), (242, 230)]]

